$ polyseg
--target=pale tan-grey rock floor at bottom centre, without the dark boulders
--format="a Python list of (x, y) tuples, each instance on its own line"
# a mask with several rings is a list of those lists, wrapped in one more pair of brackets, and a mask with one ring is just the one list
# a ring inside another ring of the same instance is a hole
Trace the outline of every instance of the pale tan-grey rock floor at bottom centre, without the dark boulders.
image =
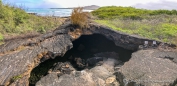
[(36, 86), (119, 86), (114, 72), (109, 71), (117, 62), (113, 61), (112, 64), (106, 62), (101, 66), (73, 71), (71, 74), (63, 74), (59, 77), (56, 77), (57, 72), (50, 73), (38, 81)]

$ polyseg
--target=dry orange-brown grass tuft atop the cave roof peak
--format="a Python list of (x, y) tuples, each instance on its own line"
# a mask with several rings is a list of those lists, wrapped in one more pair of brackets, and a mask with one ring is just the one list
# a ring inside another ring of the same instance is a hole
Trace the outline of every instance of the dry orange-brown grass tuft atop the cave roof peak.
[(83, 12), (82, 7), (74, 8), (71, 14), (71, 23), (78, 25), (80, 28), (88, 27), (88, 15)]

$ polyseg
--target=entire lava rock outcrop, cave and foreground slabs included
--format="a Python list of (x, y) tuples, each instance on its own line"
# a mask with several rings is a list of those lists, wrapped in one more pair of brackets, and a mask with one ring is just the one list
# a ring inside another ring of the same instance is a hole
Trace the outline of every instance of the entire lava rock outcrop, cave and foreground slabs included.
[[(82, 44), (79, 44), (81, 41), (77, 39), (83, 35), (90, 38), (83, 38)], [(94, 38), (106, 41), (86, 41)], [(146, 46), (145, 41), (148, 41)], [(1, 45), (0, 85), (176, 86), (175, 45), (157, 41), (154, 46), (153, 41), (95, 24), (90, 24), (87, 29), (79, 29), (68, 22), (53, 32)], [(99, 47), (95, 48), (92, 46), (94, 44)], [(72, 51), (75, 46), (77, 50)], [(67, 56), (69, 51), (72, 54)], [(65, 56), (67, 58), (60, 61)], [(47, 73), (36, 83), (31, 83), (33, 69), (41, 64), (48, 65), (45, 62), (52, 59), (54, 62)]]

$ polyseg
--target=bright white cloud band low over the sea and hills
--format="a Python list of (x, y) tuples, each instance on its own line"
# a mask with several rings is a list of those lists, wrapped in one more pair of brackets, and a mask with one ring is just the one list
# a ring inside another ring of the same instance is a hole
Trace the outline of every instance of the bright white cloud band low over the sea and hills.
[[(98, 6), (132, 6), (137, 3), (149, 3), (158, 2), (159, 0), (44, 0), (46, 4), (54, 4), (54, 6), (62, 7), (76, 7), (76, 6), (87, 6), (87, 5), (98, 5)], [(52, 5), (51, 5), (52, 6)]]

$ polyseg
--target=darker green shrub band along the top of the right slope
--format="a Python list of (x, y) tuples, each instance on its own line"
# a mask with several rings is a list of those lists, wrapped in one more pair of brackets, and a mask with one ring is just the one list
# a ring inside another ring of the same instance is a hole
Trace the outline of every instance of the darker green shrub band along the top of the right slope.
[(177, 15), (176, 10), (146, 10), (146, 9), (136, 9), (133, 7), (117, 7), (117, 6), (106, 6), (101, 7), (92, 12), (94, 16), (100, 19), (143, 19), (147, 15)]

